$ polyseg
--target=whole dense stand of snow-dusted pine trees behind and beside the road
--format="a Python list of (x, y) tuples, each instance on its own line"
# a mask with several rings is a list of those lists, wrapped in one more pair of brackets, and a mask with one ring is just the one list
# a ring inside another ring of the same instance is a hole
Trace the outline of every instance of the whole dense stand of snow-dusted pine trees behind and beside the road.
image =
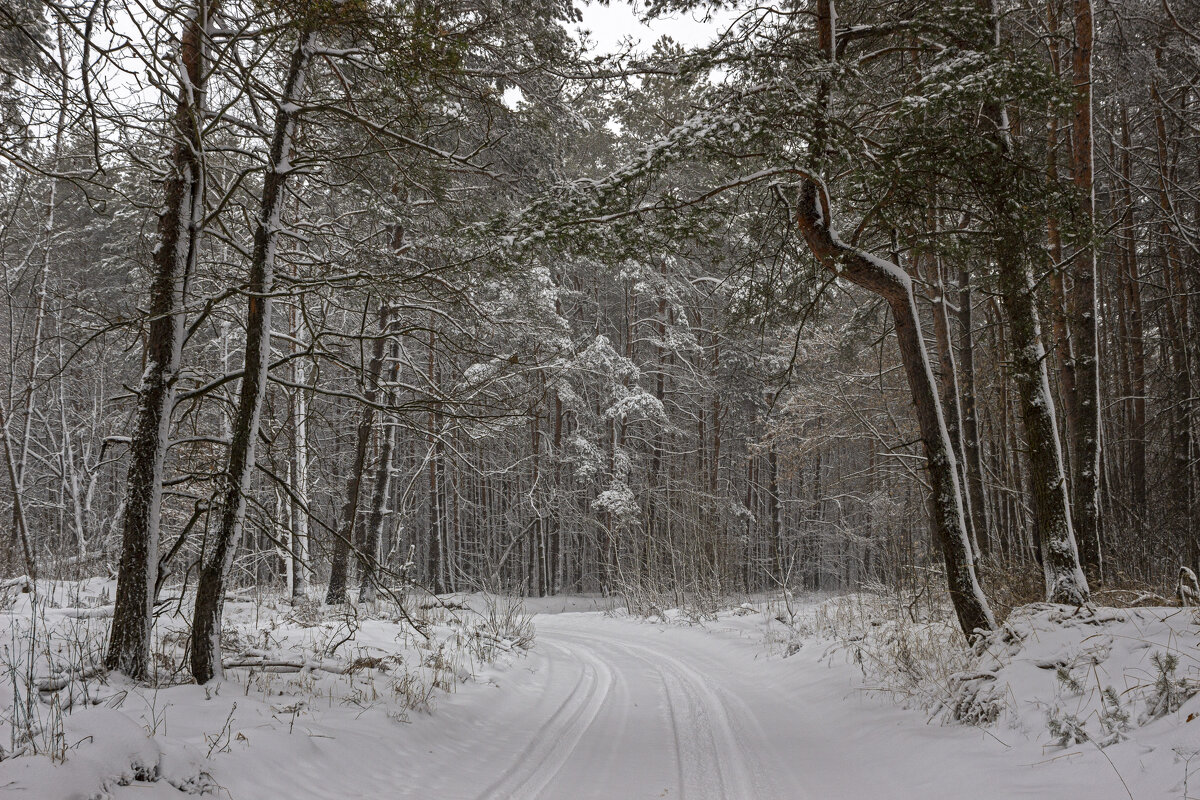
[(1200, 7), (732, 19), (2, 0), (6, 572), (110, 570), (139, 678), (194, 590), (203, 682), (235, 585), (1200, 569)]

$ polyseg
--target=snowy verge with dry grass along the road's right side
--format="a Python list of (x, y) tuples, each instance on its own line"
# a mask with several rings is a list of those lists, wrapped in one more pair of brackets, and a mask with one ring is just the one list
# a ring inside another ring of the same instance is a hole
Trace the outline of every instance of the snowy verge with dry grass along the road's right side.
[[(848, 595), (756, 604), (772, 652), (852, 666), (857, 688), (984, 732), (1014, 765), (1099, 770), (1121, 796), (1200, 796), (1200, 612), (1194, 608), (1013, 610), (967, 649), (929, 599)], [(811, 660), (798, 663), (804, 668)]]

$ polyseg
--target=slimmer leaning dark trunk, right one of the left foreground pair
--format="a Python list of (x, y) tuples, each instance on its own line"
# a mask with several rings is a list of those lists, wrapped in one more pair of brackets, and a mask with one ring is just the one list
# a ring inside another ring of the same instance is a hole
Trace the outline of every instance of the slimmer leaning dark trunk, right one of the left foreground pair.
[(246, 308), (246, 357), (242, 367), (238, 410), (229, 461), (222, 476), (221, 521), (216, 536), (204, 555), (196, 587), (196, 612), (192, 618), (192, 676), (206, 684), (222, 676), (221, 612), (224, 608), (226, 582), (233, 570), (233, 557), (241, 540), (246, 518), (246, 493), (254, 471), (254, 444), (266, 393), (266, 373), (271, 355), (271, 293), (275, 289), (275, 251), (282, 229), (284, 190), (287, 188), (292, 149), (299, 122), (300, 95), (316, 38), (314, 31), (300, 35), (292, 53), (283, 97), (275, 116), (271, 151), (263, 181), (263, 204), (254, 230), (251, 255), (248, 301)]

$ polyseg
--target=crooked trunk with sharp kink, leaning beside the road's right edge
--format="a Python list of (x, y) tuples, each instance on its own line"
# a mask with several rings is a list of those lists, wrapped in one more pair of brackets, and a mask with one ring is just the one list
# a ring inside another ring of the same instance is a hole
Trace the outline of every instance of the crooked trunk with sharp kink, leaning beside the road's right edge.
[[(836, 11), (834, 0), (817, 2), (817, 41), (828, 61), (836, 58)], [(829, 86), (818, 90), (817, 103), (827, 108)], [(817, 145), (812, 151), (824, 150), (827, 124), (820, 120), (815, 131)], [(796, 217), (797, 227), (812, 254), (827, 269), (857, 285), (877, 294), (892, 308), (900, 345), (900, 360), (912, 392), (917, 423), (925, 452), (925, 470), (931, 483), (930, 517), (934, 535), (942, 557), (946, 559), (946, 576), (950, 601), (962, 632), (973, 638), (977, 631), (996, 627), (988, 600), (974, 571), (971, 540), (967, 533), (962, 506), (962, 487), (959, 486), (959, 468), (946, 428), (942, 405), (938, 402), (937, 381), (925, 349), (920, 331), (920, 317), (908, 273), (898, 265), (847, 245), (832, 225), (829, 196), (815, 175), (804, 181), (800, 207)]]

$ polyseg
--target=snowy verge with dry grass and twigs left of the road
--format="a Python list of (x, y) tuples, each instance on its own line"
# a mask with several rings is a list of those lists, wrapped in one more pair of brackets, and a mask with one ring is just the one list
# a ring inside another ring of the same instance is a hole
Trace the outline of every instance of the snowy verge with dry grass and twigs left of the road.
[[(0, 595), (0, 787), (38, 800), (384, 796), (425, 718), (486, 699), (534, 633), (520, 603), (482, 596), (427, 608), (412, 597), (416, 628), (386, 603), (233, 596), (226, 680), (202, 687), (176, 597), (161, 606), (158, 680), (145, 687), (98, 666), (110, 581), (32, 589)], [(355, 774), (367, 777), (347, 782)]]

